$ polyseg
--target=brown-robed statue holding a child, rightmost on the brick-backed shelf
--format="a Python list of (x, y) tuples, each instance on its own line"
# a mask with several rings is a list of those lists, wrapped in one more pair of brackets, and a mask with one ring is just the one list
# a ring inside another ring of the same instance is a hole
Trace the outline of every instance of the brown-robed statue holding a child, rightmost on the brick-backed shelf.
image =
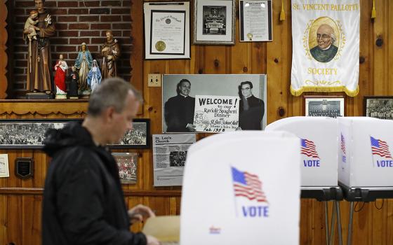
[(112, 31), (106, 31), (107, 42), (102, 45), (102, 78), (117, 76), (116, 59), (120, 57), (120, 47), (116, 39), (113, 39)]

